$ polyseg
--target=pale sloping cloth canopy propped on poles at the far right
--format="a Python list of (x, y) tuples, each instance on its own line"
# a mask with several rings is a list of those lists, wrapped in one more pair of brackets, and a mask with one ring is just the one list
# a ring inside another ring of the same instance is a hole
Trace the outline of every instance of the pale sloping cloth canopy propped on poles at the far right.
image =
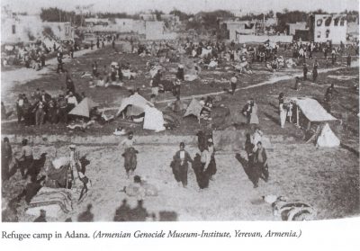
[(319, 102), (311, 98), (291, 98), (296, 103), (305, 117), (313, 121), (336, 121), (337, 118), (329, 114)]

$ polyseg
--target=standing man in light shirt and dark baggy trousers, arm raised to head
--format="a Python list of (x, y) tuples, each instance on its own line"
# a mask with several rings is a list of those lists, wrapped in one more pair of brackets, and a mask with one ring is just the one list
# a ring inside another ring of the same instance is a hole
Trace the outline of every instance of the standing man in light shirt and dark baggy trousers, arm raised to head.
[(135, 142), (135, 140), (133, 139), (133, 136), (134, 136), (134, 133), (132, 131), (130, 131), (128, 138), (123, 139), (118, 146), (119, 148), (124, 149), (122, 157), (125, 158), (124, 167), (125, 167), (126, 175), (128, 178), (130, 177), (130, 175), (132, 175), (132, 173), (134, 172), (134, 170), (136, 169), (136, 166), (137, 166), (136, 154), (138, 153), (138, 151), (135, 150), (135, 148), (133, 147), (134, 142)]

